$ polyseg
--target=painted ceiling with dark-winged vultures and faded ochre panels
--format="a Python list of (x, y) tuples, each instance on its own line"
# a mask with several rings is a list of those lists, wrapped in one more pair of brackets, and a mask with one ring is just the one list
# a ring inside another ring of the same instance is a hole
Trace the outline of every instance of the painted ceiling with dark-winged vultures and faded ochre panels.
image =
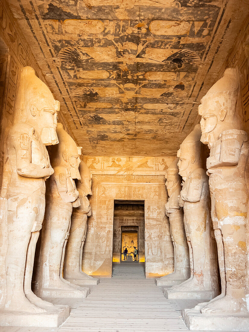
[(93, 156), (175, 155), (248, 14), (237, 0), (9, 3)]

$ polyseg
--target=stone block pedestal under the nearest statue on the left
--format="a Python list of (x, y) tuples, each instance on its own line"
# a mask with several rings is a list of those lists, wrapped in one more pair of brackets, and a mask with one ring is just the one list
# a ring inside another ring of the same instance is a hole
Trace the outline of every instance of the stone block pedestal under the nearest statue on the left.
[(58, 327), (69, 317), (69, 306), (56, 305), (56, 309), (45, 313), (30, 313), (25, 311), (0, 311), (0, 326), (35, 326)]

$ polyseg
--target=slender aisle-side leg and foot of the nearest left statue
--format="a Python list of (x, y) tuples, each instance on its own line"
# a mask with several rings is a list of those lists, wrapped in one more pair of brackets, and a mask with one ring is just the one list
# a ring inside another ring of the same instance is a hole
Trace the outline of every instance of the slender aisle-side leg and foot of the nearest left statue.
[(55, 308), (55, 306), (47, 301), (42, 300), (40, 297), (36, 296), (33, 291), (31, 290), (31, 281), (32, 281), (32, 274), (33, 274), (33, 267), (34, 267), (34, 258), (35, 258), (35, 251), (36, 251), (36, 244), (39, 238), (40, 231), (32, 232), (30, 242), (28, 245), (27, 251), (27, 259), (26, 259), (26, 266), (25, 266), (25, 274), (24, 274), (24, 293), (27, 299), (34, 303), (35, 305), (43, 308), (43, 309), (50, 309)]

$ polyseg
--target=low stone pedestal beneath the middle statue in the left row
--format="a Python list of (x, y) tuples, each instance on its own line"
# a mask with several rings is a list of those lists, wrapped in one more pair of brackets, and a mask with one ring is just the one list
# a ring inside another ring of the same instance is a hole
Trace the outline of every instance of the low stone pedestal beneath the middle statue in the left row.
[(86, 298), (90, 294), (87, 287), (82, 287), (81, 290), (77, 289), (59, 289), (59, 288), (42, 288), (40, 297), (73, 297), (73, 298)]

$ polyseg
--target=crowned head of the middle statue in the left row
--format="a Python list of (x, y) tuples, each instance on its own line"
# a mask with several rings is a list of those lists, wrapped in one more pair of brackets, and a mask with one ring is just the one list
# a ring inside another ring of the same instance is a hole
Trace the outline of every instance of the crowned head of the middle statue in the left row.
[(51, 154), (51, 164), (55, 166), (65, 166), (72, 179), (80, 180), (80, 158), (79, 150), (72, 139), (72, 137), (63, 129), (63, 125), (58, 123), (56, 133), (59, 139), (59, 144), (54, 148), (54, 153)]

